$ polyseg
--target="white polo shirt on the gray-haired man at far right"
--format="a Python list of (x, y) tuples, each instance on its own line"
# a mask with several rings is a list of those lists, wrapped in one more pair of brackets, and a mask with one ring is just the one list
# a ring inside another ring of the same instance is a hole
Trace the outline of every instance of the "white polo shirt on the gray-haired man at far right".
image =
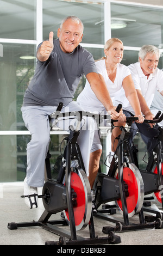
[[(163, 72), (160, 69), (156, 69), (154, 74), (150, 74), (148, 79), (145, 74), (143, 74), (143, 71), (140, 67), (140, 63), (136, 62), (134, 64), (130, 64), (128, 68), (131, 71), (131, 76), (134, 81), (135, 89), (141, 90), (141, 93), (143, 97), (146, 100), (146, 103), (148, 107), (150, 108), (151, 103), (154, 98), (155, 90), (159, 90), (160, 92), (163, 90)], [(134, 110), (131, 107), (129, 101), (127, 100), (127, 97), (124, 93), (123, 88), (121, 89), (121, 92), (116, 95), (114, 98), (114, 106), (118, 105), (118, 103), (121, 103), (124, 110), (127, 110), (133, 114)]]

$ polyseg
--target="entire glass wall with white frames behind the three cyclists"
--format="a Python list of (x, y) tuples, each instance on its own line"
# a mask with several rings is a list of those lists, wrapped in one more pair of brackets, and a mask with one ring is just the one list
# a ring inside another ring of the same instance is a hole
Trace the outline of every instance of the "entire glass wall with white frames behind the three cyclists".
[[(76, 15), (84, 23), (81, 45), (95, 59), (104, 56), (105, 40), (112, 36), (123, 41), (125, 50), (122, 63), (129, 65), (137, 61), (138, 51), (143, 44), (163, 48), (163, 7), (109, 0), (0, 0), (0, 7), (0, 182), (23, 181), (30, 135), (22, 120), (21, 105), (34, 74), (37, 45), (48, 39), (50, 31), (57, 38), (61, 20), (68, 15)], [(115, 28), (118, 22), (123, 23), (123, 28)], [(163, 68), (162, 56), (159, 68)], [(84, 84), (85, 77), (79, 83), (74, 100)], [(63, 136), (51, 136), (52, 164), (60, 154), (59, 145)], [(105, 142), (103, 137), (102, 161), (106, 154)]]

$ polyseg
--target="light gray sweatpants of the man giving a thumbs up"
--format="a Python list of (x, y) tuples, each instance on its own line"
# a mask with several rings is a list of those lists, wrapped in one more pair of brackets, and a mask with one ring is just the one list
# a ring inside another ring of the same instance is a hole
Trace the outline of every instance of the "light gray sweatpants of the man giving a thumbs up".
[[(45, 181), (45, 158), (50, 142), (50, 125), (48, 116), (57, 107), (28, 106), (22, 107), (22, 117), (27, 129), (30, 131), (31, 140), (27, 144), (27, 184), (33, 187), (42, 187)], [(64, 106), (61, 112), (82, 111), (77, 102), (72, 101)], [(76, 119), (60, 120), (58, 126), (69, 131), (70, 124), (75, 124)], [(83, 117), (82, 130), (78, 137), (78, 144), (82, 153), (87, 176), (89, 175), (90, 149), (92, 146), (95, 120)]]

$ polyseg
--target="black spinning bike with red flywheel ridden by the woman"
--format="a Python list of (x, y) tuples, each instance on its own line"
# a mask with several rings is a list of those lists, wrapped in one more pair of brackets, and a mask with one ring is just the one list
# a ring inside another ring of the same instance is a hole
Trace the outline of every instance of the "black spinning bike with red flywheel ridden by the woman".
[[(161, 117), (163, 118), (163, 117)], [(153, 123), (161, 121), (160, 119), (152, 120)], [(128, 129), (131, 123), (137, 118), (127, 117)], [(149, 123), (151, 120), (145, 120)], [(95, 202), (97, 209), (100, 205), (116, 201), (116, 208), (123, 215), (123, 222), (118, 221), (111, 215), (116, 213), (115, 206), (108, 204), (102, 205), (102, 209), (98, 209), (94, 216), (103, 218), (104, 220), (116, 223), (115, 229), (112, 227), (104, 227), (103, 232), (108, 233), (110, 230), (136, 230), (144, 228), (161, 228), (162, 221), (156, 218), (154, 222), (147, 223), (143, 216), (143, 200), (144, 194), (151, 191), (151, 184), (147, 176), (142, 178), (141, 172), (134, 163), (133, 153), (130, 149), (128, 138), (130, 132), (126, 127), (121, 126), (122, 133), (118, 138), (118, 145), (115, 155), (112, 158), (108, 174), (98, 172), (95, 180), (94, 189), (96, 190)], [(154, 180), (152, 181), (154, 184)], [(152, 188), (153, 189), (153, 188)], [(158, 190), (158, 186), (155, 188)], [(105, 215), (105, 213), (107, 215)], [(108, 215), (110, 214), (110, 215)], [(129, 217), (139, 214), (139, 224), (129, 223)]]

